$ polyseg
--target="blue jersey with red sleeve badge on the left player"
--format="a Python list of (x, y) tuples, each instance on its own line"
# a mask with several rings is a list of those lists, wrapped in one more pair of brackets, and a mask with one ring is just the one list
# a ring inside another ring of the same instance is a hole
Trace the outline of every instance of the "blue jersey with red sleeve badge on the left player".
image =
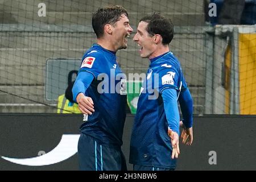
[(93, 44), (82, 58), (80, 72), (94, 76), (85, 96), (92, 98), (95, 110), (81, 125), (81, 133), (90, 135), (98, 144), (121, 146), (126, 118), (126, 77), (117, 64), (115, 52)]

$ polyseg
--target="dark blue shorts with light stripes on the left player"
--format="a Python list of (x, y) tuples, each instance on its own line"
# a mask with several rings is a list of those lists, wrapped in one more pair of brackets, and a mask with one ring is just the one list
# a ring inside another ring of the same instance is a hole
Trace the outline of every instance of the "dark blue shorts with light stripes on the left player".
[(79, 138), (78, 155), (82, 171), (127, 171), (121, 146), (105, 146), (83, 133)]

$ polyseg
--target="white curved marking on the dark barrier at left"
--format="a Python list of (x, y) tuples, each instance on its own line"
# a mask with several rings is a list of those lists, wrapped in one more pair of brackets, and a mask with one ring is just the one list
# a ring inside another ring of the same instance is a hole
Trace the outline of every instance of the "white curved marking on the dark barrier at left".
[(80, 135), (62, 135), (60, 143), (52, 151), (35, 158), (18, 159), (5, 156), (2, 156), (2, 158), (26, 166), (46, 166), (59, 163), (76, 154), (79, 137)]

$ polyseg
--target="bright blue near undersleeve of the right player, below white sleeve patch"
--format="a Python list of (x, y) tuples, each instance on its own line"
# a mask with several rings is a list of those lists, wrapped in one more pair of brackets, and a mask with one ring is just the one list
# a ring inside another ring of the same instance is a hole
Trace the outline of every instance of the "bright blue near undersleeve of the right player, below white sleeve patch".
[(168, 126), (170, 127), (170, 129), (172, 129), (172, 131), (175, 131), (177, 134), (180, 135), (180, 115), (177, 106), (177, 91), (171, 88), (164, 89), (162, 92), (162, 98)]

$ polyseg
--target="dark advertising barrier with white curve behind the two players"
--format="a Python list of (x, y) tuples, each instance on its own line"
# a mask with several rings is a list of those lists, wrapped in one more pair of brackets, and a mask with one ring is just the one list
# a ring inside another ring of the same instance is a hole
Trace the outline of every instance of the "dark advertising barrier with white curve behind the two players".
[[(127, 115), (123, 133), (129, 170), (133, 119)], [(80, 114), (0, 114), (0, 170), (78, 170), (81, 123)], [(180, 143), (176, 170), (255, 170), (255, 129), (255, 115), (194, 117), (194, 142)]]

